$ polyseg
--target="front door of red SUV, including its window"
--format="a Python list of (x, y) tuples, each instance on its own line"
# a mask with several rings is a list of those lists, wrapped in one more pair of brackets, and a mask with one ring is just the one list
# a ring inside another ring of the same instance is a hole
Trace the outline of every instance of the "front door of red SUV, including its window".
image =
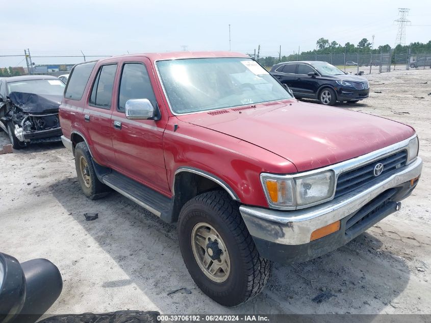
[[(130, 120), (125, 117), (125, 103), (133, 98), (147, 98), (156, 109), (156, 96), (148, 71), (148, 59), (124, 61), (121, 66), (117, 104), (112, 113), (112, 143), (118, 168), (124, 175), (142, 184), (169, 192), (163, 154), (163, 132), (167, 118)], [(151, 76), (154, 80), (154, 74)]]

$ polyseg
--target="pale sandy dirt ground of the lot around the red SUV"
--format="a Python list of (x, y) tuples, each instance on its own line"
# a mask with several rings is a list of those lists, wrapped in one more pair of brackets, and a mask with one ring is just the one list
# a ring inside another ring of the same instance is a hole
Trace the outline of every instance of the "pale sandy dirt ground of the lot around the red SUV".
[[(431, 313), (431, 70), (365, 77), (370, 98), (338, 107), (416, 128), (425, 164), (417, 189), (399, 212), (339, 250), (305, 263), (275, 264), (267, 288), (246, 304), (224, 308), (196, 287), (181, 258), (176, 225), (118, 193), (87, 200), (61, 143), (0, 156), (0, 251), (21, 262), (44, 257), (57, 264), (64, 287), (51, 314)], [(0, 133), (0, 144), (7, 142)], [(99, 218), (86, 222), (84, 212)], [(181, 287), (191, 293), (167, 295)], [(314, 303), (324, 290), (335, 296)]]

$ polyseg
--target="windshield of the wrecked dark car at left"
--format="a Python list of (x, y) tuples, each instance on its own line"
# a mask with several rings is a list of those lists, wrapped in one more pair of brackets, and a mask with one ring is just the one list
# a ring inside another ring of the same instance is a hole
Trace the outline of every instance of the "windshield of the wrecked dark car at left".
[(8, 93), (63, 95), (65, 84), (60, 80), (28, 80), (8, 83)]

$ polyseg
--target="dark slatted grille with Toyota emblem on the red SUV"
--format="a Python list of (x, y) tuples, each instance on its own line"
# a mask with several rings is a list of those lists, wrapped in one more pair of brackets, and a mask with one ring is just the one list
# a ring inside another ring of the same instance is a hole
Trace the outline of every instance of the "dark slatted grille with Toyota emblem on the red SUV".
[(378, 163), (383, 164), (383, 171), (381, 175), (379, 175), (383, 176), (384, 174), (404, 166), (406, 162), (407, 151), (403, 150), (358, 168), (343, 172), (338, 176), (335, 197), (351, 192), (374, 180), (376, 178), (374, 176), (374, 166)]

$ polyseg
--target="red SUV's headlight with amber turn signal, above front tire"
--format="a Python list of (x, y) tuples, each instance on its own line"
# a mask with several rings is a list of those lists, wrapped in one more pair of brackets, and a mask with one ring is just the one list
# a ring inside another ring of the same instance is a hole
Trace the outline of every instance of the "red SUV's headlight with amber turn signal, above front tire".
[(335, 188), (332, 170), (301, 177), (264, 173), (261, 179), (268, 204), (275, 208), (314, 205), (331, 198)]

